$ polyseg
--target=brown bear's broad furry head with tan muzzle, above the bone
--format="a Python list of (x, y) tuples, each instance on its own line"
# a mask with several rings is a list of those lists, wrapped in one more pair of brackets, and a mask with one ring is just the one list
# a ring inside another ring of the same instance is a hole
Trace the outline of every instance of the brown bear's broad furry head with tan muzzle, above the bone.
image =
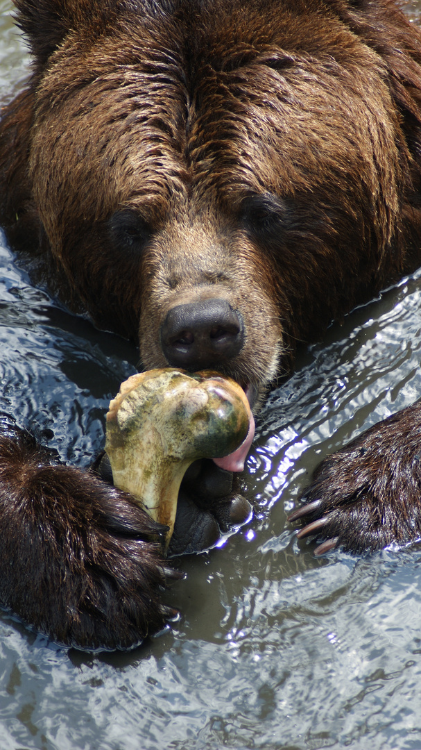
[(32, 215), (73, 298), (139, 336), (145, 368), (214, 368), (254, 401), (295, 341), (414, 266), (418, 131), (405, 139), (363, 11), (73, 0), (57, 20), (49, 0), (17, 5), (35, 55)]

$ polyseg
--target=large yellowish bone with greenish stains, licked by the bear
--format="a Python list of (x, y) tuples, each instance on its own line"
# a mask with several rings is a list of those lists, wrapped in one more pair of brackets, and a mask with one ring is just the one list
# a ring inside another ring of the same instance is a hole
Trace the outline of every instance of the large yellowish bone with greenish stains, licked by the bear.
[(231, 454), (246, 438), (249, 419), (243, 389), (216, 373), (166, 368), (122, 383), (106, 416), (113, 481), (169, 526), (167, 546), (190, 463)]

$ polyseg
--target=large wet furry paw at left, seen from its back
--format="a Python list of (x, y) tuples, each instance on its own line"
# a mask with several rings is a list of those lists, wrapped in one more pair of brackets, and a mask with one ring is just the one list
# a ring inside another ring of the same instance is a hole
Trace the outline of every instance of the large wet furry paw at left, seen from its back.
[(162, 527), (131, 496), (0, 424), (0, 601), (69, 646), (127, 648), (175, 611)]

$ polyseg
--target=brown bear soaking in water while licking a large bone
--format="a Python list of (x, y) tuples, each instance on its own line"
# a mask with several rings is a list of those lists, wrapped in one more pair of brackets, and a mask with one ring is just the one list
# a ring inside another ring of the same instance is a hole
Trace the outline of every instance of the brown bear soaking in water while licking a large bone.
[[(257, 408), (297, 341), (420, 265), (421, 34), (389, 1), (15, 1), (33, 67), (1, 120), (1, 223), (73, 309), (139, 341), (142, 368), (216, 369)], [(375, 491), (376, 432), (309, 490), (324, 548), (420, 535), (419, 499), (385, 481), (408, 474), (390, 425), (400, 458)], [(159, 627), (154, 524), (1, 432), (0, 600), (84, 647)], [(228, 470), (195, 470), (210, 491), (187, 492), (184, 538), (244, 511)]]

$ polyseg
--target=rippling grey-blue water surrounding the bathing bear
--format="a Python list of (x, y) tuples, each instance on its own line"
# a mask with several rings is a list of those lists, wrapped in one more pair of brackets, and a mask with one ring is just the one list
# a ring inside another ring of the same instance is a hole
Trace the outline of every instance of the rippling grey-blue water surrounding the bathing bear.
[[(26, 70), (9, 10), (2, 101)], [(0, 410), (84, 466), (136, 350), (32, 288), (4, 239), (0, 255)], [(300, 353), (248, 460), (254, 520), (184, 559), (181, 619), (150, 643), (67, 652), (1, 613), (1, 750), (420, 750), (420, 550), (315, 559), (285, 520), (324, 455), (420, 397), (420, 349), (414, 275)]]

